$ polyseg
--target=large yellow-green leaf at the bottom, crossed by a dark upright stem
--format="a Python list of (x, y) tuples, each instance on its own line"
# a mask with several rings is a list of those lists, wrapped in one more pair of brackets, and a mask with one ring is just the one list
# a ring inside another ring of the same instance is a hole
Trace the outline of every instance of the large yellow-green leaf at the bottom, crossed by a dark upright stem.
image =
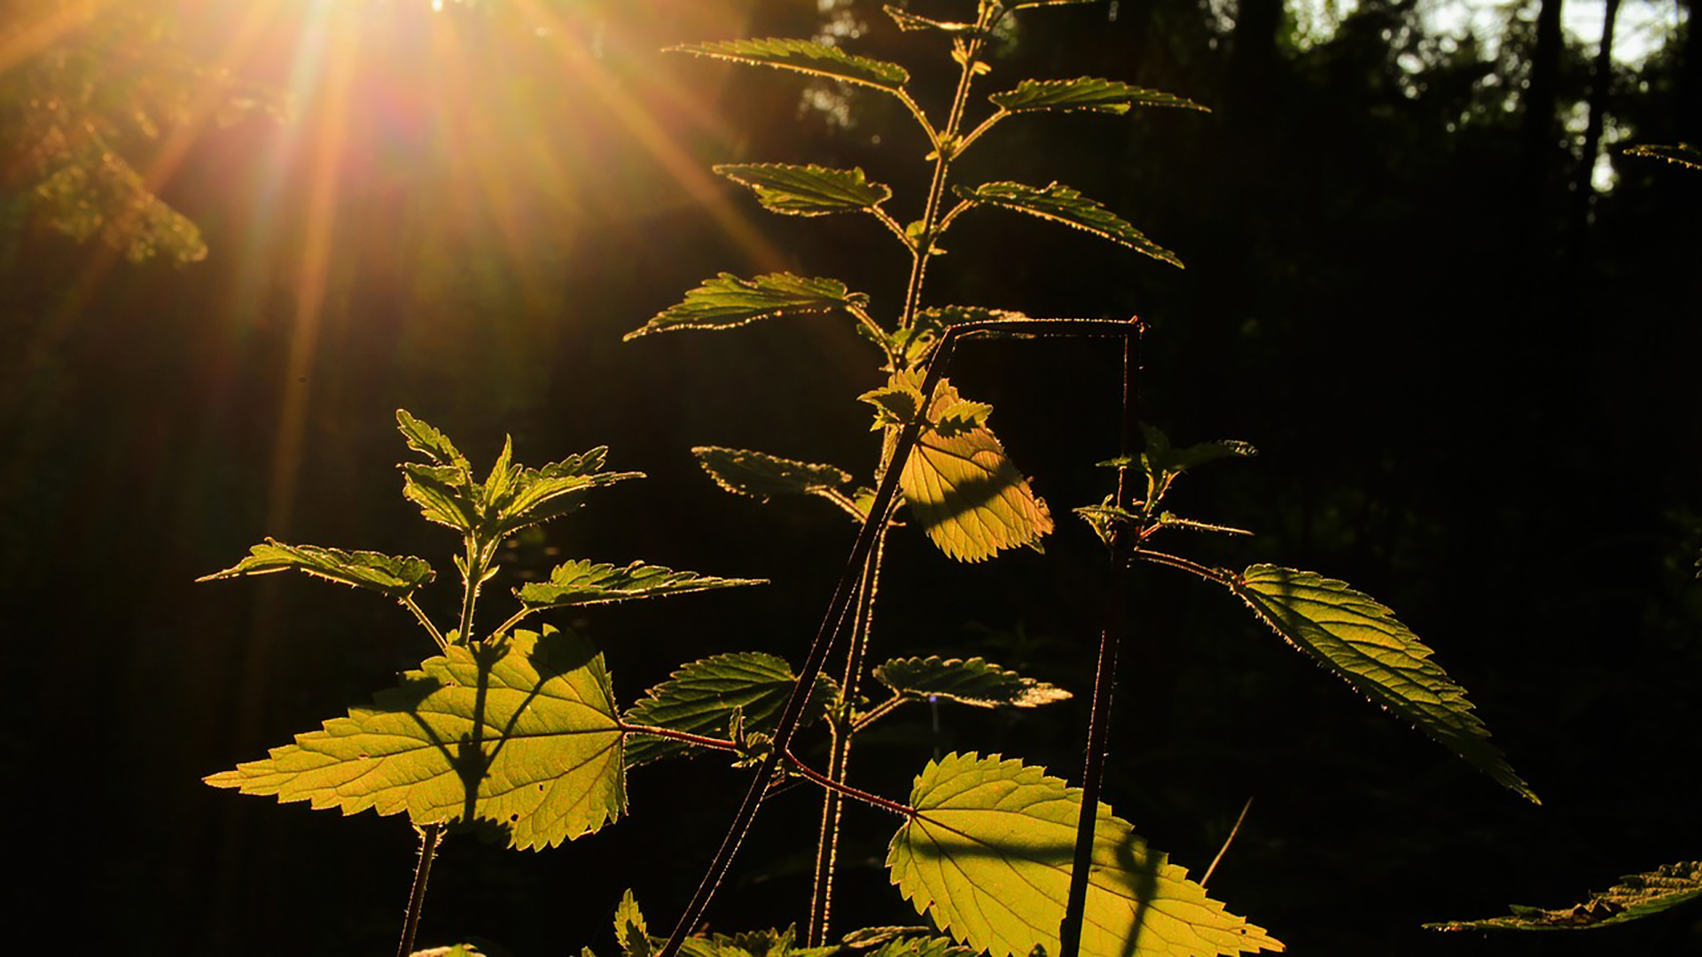
[[(892, 882), (917, 913), (991, 957), (1059, 952), (1081, 790), (997, 756), (948, 754), (916, 778), (916, 817), (887, 851)], [(1234, 916), (1099, 805), (1082, 957), (1282, 950)]]

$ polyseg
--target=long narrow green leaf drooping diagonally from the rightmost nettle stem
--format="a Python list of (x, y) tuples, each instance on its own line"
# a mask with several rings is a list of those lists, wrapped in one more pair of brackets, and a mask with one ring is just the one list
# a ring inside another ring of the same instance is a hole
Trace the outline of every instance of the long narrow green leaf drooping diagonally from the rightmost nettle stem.
[(1431, 661), (1431, 649), (1397, 622), (1394, 611), (1346, 582), (1276, 565), (1253, 565), (1229, 587), (1278, 635), (1367, 698), (1413, 722), (1496, 782), (1542, 804), (1489, 744), (1489, 729), (1472, 713), (1465, 690)]

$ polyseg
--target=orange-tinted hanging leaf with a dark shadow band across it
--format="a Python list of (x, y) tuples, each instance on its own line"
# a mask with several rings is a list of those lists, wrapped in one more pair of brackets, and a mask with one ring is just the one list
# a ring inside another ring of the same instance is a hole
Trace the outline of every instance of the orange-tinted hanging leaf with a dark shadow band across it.
[[(963, 400), (940, 380), (929, 421)], [(1052, 513), (1011, 465), (985, 426), (924, 427), (899, 477), (904, 502), (946, 555), (980, 562), (1004, 548), (1037, 545), (1052, 533)]]

